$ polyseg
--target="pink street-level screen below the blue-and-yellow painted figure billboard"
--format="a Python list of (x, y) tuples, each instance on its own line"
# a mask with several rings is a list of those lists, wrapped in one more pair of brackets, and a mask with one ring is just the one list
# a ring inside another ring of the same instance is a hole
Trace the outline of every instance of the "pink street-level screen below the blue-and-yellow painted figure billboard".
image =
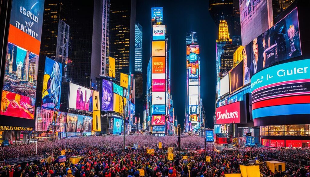
[(36, 131), (47, 131), (47, 127), (53, 122), (54, 111), (37, 107)]

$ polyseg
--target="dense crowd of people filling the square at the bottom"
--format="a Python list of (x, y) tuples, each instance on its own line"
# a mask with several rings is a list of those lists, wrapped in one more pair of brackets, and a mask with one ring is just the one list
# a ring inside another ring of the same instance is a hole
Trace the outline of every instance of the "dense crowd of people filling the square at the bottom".
[[(162, 142), (162, 149), (158, 148)], [(155, 137), (150, 135), (130, 135), (126, 137), (126, 146), (138, 144), (138, 149), (122, 149), (122, 136), (101, 136), (69, 138), (56, 140), (54, 157), (67, 148), (66, 155), (80, 156), (80, 162), (72, 164), (68, 161), (60, 165), (57, 160), (47, 162), (29, 162), (29, 164), (3, 167), (0, 177), (222, 177), (228, 173), (240, 173), (239, 165), (246, 165), (250, 156), (266, 160), (271, 154), (281, 157), (309, 159), (309, 149), (270, 149), (265, 147), (224, 148), (222, 152), (214, 150), (214, 145), (206, 144), (204, 139), (196, 136), (181, 138), (181, 153), (176, 151), (175, 136)], [(37, 144), (38, 154), (51, 154), (51, 142)], [(146, 151), (146, 147), (156, 148), (154, 155)], [(175, 147), (173, 160), (167, 158), (167, 148)], [(9, 159), (35, 155), (36, 145), (16, 144), (0, 147), (0, 159)], [(188, 150), (190, 149), (190, 150)], [(196, 149), (196, 150), (193, 150)], [(186, 155), (188, 159), (183, 159)], [(206, 162), (206, 155), (211, 157)], [(252, 159), (253, 159), (252, 158)], [(56, 159), (56, 158), (55, 158)], [(285, 159), (285, 158), (283, 158)], [(264, 175), (277, 177), (310, 177), (309, 167), (286, 165), (286, 171), (273, 174), (265, 165), (260, 166)]]

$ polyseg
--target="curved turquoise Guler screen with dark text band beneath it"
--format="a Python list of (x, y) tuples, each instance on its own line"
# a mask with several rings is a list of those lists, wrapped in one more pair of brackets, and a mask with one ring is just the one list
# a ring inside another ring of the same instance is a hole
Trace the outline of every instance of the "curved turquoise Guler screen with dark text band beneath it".
[(252, 102), (310, 93), (310, 59), (278, 64), (251, 79)]

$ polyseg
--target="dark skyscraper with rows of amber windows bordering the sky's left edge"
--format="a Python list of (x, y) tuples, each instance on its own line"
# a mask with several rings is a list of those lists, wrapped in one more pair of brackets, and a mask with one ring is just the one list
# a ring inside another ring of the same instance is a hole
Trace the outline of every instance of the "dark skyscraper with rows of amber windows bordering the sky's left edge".
[(115, 70), (133, 73), (135, 61), (136, 0), (113, 0), (110, 5), (110, 56), (115, 58)]

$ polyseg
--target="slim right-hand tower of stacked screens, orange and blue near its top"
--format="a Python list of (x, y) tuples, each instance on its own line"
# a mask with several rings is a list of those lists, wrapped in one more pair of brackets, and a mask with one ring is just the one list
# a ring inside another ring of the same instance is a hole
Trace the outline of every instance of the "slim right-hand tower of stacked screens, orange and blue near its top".
[(197, 132), (202, 122), (200, 99), (200, 57), (196, 32), (186, 35), (185, 131)]

